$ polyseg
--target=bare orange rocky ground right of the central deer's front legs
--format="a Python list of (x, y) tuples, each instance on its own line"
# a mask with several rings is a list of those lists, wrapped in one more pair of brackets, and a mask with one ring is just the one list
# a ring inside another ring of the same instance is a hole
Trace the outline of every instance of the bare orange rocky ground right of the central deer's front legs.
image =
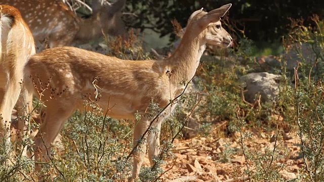
[[(217, 126), (214, 126), (217, 127)], [(189, 140), (176, 140), (176, 160), (169, 161), (165, 166), (167, 172), (163, 175), (165, 181), (245, 181), (248, 176), (247, 162), (242, 152), (240, 134), (235, 133), (230, 138), (218, 138), (216, 131), (207, 137), (197, 137)], [(264, 154), (267, 149), (282, 154), (274, 160), (276, 164), (283, 164), (279, 169), (280, 177), (288, 180), (296, 178), (300, 169), (304, 167), (300, 157), (298, 136), (293, 133), (279, 134), (277, 141), (275, 131), (272, 133), (259, 132), (253, 138), (244, 142), (246, 151)], [(249, 169), (256, 171), (253, 161), (249, 160)], [(144, 165), (149, 166), (146, 158)]]

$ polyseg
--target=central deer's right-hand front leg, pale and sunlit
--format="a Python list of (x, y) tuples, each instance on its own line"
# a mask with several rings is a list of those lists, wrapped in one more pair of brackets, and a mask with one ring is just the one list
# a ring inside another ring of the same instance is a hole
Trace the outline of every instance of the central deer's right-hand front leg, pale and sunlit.
[(161, 124), (162, 122), (158, 122), (152, 126), (147, 138), (148, 158), (151, 165), (154, 164), (154, 157), (157, 157), (159, 154)]

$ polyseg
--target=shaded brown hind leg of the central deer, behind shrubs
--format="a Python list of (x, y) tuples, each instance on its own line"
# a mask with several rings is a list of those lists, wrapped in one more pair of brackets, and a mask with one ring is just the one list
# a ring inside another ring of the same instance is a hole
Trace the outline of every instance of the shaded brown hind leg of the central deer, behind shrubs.
[[(50, 159), (51, 144), (64, 126), (65, 121), (75, 111), (72, 101), (64, 100), (64, 103), (50, 100), (45, 103), (47, 106), (44, 122), (35, 136), (34, 157), (36, 162), (45, 162)], [(45, 160), (45, 161), (44, 161)], [(41, 164), (35, 164), (35, 171), (42, 169)], [(39, 179), (42, 176), (38, 176)]]

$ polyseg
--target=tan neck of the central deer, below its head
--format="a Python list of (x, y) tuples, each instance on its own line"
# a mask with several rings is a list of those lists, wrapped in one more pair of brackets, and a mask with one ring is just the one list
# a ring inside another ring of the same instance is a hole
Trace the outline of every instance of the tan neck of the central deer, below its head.
[(170, 81), (179, 84), (181, 81), (189, 81), (194, 76), (201, 56), (206, 49), (206, 42), (201, 34), (186, 32), (173, 55), (166, 61), (172, 70)]

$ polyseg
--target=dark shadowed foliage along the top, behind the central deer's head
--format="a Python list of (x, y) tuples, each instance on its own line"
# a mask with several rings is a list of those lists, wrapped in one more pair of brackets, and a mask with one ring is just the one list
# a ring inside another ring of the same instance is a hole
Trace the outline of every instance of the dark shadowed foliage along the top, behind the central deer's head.
[(245, 35), (254, 41), (280, 40), (288, 32), (290, 18), (303, 18), (306, 23), (311, 23), (309, 17), (313, 14), (324, 15), (324, 1), (320, 0), (129, 0), (125, 11), (138, 16), (127, 18), (129, 26), (141, 30), (149, 28), (165, 36), (173, 32), (171, 20), (176, 19), (184, 27), (193, 11), (200, 8), (210, 11), (228, 3), (233, 4), (227, 14), (229, 22), (235, 23), (239, 29), (245, 29)]

